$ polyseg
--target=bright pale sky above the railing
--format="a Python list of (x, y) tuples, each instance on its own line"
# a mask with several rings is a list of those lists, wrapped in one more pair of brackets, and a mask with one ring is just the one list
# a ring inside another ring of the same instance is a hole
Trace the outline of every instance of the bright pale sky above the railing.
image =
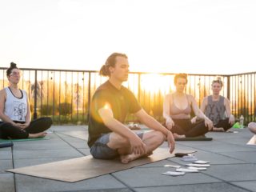
[(1, 0), (0, 66), (131, 71), (256, 71), (254, 0)]

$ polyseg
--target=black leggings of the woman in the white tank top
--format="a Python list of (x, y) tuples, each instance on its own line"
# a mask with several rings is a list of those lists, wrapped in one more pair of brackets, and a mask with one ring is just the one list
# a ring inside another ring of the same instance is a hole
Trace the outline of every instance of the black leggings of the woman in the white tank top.
[(48, 130), (52, 124), (51, 118), (37, 118), (30, 122), (30, 126), (22, 130), (13, 126), (10, 122), (0, 122), (0, 138), (28, 138), (29, 134), (37, 134)]

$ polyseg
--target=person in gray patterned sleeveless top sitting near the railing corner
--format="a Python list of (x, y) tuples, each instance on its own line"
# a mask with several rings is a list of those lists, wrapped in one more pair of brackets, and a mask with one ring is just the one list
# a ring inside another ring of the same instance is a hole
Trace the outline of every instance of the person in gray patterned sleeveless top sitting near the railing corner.
[[(219, 78), (211, 83), (212, 95), (203, 98), (201, 110), (214, 122), (214, 131), (226, 131), (234, 125), (234, 115), (231, 114), (230, 101), (220, 95), (222, 80)], [(193, 118), (193, 122), (197, 117)]]

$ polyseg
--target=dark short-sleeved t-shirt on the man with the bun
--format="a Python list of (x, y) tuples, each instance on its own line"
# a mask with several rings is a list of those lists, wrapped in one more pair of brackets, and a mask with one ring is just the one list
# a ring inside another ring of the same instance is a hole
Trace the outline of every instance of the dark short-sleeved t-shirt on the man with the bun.
[(107, 106), (113, 111), (114, 118), (119, 122), (125, 122), (126, 115), (134, 114), (141, 110), (134, 94), (126, 87), (122, 86), (118, 90), (109, 81), (106, 81), (95, 91), (90, 106), (89, 118), (89, 138), (88, 146), (92, 146), (94, 142), (102, 135), (112, 132), (102, 122), (102, 118), (98, 114), (98, 110)]

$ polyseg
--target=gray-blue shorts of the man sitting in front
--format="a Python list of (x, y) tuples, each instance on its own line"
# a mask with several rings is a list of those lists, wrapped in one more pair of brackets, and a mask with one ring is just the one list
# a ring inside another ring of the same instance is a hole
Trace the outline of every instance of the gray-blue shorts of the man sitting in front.
[[(119, 156), (118, 150), (113, 150), (106, 144), (110, 142), (110, 134), (102, 134), (100, 138), (94, 142), (94, 145), (90, 147), (90, 154), (94, 158), (100, 159), (113, 159)], [(139, 138), (142, 139), (143, 133), (137, 134)]]

